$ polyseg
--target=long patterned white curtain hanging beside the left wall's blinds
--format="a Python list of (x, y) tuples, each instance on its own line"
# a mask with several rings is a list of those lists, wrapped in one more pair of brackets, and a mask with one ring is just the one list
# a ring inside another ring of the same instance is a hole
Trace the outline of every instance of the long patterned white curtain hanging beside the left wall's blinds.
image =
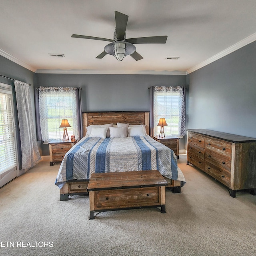
[(24, 170), (31, 168), (41, 159), (41, 156), (36, 144), (29, 85), (17, 80), (14, 81), (14, 85), (20, 126), (22, 169)]

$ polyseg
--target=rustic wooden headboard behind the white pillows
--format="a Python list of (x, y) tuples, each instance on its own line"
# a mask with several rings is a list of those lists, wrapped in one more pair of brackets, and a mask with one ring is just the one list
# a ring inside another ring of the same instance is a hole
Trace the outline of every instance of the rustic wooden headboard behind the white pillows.
[(149, 111), (104, 111), (82, 112), (84, 136), (86, 126), (100, 124), (126, 123), (130, 125), (146, 124), (146, 132), (149, 134)]

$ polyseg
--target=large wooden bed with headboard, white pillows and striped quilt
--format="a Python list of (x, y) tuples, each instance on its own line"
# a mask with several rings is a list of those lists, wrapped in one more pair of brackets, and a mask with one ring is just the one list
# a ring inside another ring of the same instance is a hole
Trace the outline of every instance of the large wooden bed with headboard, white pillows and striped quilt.
[(94, 172), (159, 170), (167, 187), (180, 193), (184, 175), (174, 152), (148, 135), (148, 111), (83, 112), (83, 128), (84, 137), (66, 153), (59, 168), (55, 184), (61, 201), (88, 195)]

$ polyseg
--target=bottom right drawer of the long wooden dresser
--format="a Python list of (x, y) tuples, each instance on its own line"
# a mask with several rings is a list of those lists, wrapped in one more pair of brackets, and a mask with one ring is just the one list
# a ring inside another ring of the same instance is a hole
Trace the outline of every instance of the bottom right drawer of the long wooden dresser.
[(230, 172), (227, 170), (218, 168), (206, 161), (204, 171), (222, 184), (230, 187)]

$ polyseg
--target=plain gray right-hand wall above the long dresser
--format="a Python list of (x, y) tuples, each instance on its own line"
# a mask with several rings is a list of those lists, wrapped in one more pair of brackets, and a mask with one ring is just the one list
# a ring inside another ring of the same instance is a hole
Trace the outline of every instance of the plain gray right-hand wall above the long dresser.
[(256, 42), (187, 76), (187, 129), (256, 138)]

